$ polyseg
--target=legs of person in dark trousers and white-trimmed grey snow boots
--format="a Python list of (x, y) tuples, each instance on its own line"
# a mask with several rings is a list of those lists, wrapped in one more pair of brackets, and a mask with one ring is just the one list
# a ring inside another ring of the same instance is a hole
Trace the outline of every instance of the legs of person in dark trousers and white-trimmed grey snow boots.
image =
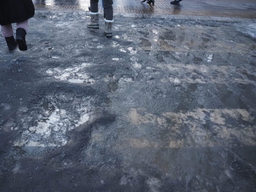
[[(88, 28), (99, 29), (99, 0), (90, 0), (90, 15), (91, 23), (87, 24)], [(105, 21), (105, 30), (104, 35), (107, 38), (112, 37), (112, 26), (113, 26), (113, 0), (102, 0), (103, 10), (104, 10), (104, 21)]]

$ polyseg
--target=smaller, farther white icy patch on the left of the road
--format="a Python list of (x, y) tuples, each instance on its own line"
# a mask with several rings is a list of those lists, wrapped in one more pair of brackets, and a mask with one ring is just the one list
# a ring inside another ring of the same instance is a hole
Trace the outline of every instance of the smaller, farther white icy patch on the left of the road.
[(82, 63), (73, 68), (50, 68), (46, 71), (49, 75), (61, 81), (68, 81), (71, 83), (94, 83), (95, 80), (87, 76), (86, 67), (92, 64)]

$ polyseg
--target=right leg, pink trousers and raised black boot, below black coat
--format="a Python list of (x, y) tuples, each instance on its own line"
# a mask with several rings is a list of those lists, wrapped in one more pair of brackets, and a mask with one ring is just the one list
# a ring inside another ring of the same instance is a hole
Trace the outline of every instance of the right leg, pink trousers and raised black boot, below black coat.
[(26, 51), (28, 49), (26, 43), (26, 34), (28, 31), (28, 20), (18, 22), (16, 24), (16, 41), (18, 43), (20, 51)]

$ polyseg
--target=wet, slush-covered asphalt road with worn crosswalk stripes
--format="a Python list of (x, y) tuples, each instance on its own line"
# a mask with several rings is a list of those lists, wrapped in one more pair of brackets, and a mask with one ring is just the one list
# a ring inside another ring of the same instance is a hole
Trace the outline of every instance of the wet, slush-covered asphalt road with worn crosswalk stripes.
[(255, 22), (36, 12), (0, 38), (0, 191), (256, 190)]

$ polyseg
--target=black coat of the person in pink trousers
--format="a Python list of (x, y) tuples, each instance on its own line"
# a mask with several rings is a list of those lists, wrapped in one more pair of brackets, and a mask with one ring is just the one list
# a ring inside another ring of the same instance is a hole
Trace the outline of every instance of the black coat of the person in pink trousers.
[(0, 25), (25, 21), (34, 14), (32, 0), (0, 0)]

